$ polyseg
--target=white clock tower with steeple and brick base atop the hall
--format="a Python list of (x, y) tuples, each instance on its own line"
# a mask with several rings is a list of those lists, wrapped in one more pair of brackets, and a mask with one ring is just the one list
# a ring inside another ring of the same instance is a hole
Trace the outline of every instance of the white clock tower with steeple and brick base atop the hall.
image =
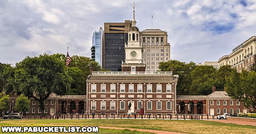
[(125, 44), (125, 61), (122, 62), (122, 71), (145, 71), (146, 64), (142, 61), (142, 46), (140, 44), (140, 31), (136, 27), (135, 5), (133, 4), (132, 26), (128, 31), (128, 43)]

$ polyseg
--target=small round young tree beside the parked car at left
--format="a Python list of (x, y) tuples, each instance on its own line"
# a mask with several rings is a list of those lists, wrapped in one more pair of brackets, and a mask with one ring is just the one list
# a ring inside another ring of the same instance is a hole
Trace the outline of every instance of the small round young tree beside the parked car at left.
[[(20, 111), (23, 115), (23, 113), (26, 113), (26, 111), (29, 110), (29, 103), (30, 100), (28, 100), (28, 97), (24, 96), (23, 94), (21, 94), (17, 99), (16, 99), (16, 103), (15, 103), (15, 107), (14, 109), (17, 111)], [(22, 119), (22, 116), (21, 116)]]

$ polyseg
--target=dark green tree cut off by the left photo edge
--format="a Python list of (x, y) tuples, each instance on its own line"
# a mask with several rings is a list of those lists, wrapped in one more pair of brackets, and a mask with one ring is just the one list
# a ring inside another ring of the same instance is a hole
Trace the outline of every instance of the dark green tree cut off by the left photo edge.
[(0, 93), (10, 94), (12, 92), (11, 79), (13, 77), (14, 68), (12, 68), (11, 64), (0, 63)]

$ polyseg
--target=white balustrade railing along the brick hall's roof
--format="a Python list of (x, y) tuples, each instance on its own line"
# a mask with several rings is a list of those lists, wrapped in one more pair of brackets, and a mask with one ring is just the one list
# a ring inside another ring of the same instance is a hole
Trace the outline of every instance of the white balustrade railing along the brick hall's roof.
[(172, 72), (92, 72), (92, 75), (172, 75)]

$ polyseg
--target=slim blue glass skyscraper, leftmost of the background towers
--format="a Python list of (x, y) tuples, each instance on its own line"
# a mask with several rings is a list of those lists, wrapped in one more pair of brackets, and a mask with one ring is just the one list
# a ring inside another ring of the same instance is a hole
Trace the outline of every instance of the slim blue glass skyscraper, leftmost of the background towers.
[(92, 35), (92, 59), (103, 67), (103, 45), (104, 45), (104, 31), (100, 27), (99, 31), (95, 31)]

